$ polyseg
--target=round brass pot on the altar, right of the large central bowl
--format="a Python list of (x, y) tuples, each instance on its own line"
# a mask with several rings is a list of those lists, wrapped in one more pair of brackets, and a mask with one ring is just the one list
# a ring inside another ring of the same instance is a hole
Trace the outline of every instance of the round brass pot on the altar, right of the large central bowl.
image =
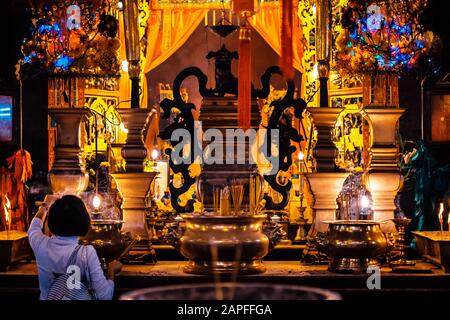
[(365, 273), (375, 258), (387, 252), (388, 241), (378, 221), (324, 221), (328, 232), (318, 236), (317, 248), (332, 260), (328, 270)]

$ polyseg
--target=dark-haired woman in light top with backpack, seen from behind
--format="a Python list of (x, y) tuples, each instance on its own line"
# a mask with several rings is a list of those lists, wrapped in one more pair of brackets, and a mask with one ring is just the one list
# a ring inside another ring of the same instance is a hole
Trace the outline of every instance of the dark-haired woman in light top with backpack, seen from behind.
[(57, 199), (48, 212), (48, 228), (42, 232), (47, 207), (43, 204), (31, 221), (28, 238), (36, 257), (41, 300), (111, 300), (114, 274), (121, 264), (113, 261), (107, 277), (92, 246), (81, 246), (78, 237), (90, 228), (89, 213), (83, 201), (73, 195)]

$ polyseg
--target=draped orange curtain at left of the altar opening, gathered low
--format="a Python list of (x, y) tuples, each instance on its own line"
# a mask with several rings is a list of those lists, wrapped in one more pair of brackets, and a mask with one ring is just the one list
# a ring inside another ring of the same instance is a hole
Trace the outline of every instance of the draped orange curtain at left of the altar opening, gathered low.
[[(147, 22), (147, 49), (143, 57), (144, 75), (166, 61), (197, 29), (205, 9), (152, 10)], [(143, 102), (147, 104), (147, 79), (142, 79)]]

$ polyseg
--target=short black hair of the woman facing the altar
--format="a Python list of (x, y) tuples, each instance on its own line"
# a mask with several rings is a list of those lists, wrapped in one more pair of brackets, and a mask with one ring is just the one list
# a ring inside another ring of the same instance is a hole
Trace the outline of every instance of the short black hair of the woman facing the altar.
[(56, 200), (49, 209), (50, 232), (63, 237), (83, 237), (89, 231), (91, 219), (83, 200), (66, 195)]

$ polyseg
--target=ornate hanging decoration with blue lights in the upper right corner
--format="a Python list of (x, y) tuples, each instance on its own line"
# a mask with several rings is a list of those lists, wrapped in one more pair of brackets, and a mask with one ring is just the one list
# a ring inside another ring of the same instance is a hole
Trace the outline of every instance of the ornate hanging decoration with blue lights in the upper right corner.
[(349, 0), (336, 39), (334, 69), (341, 75), (400, 74), (426, 66), (437, 73), (433, 57), (439, 39), (420, 23), (425, 6), (426, 0)]

